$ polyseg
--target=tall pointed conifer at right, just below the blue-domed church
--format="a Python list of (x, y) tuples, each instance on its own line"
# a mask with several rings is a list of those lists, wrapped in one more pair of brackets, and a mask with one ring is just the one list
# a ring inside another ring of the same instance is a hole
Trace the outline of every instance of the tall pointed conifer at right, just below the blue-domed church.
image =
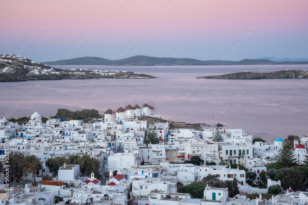
[(285, 139), (282, 142), (282, 148), (279, 150), (278, 157), (277, 157), (277, 165), (278, 168), (288, 168), (295, 166), (296, 163), (294, 162), (294, 154), (292, 152), (290, 141), (288, 139)]

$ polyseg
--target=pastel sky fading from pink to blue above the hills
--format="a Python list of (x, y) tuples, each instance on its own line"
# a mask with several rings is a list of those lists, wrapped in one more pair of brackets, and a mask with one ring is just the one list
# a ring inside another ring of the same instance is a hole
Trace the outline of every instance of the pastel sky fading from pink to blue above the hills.
[(172, 52), (199, 60), (308, 57), (306, 0), (1, 0), (0, 8), (0, 53), (39, 62)]

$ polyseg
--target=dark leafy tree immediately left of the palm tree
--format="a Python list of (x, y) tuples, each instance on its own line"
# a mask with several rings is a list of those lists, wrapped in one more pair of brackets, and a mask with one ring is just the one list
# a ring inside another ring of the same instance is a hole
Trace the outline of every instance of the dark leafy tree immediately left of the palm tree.
[[(25, 156), (21, 152), (11, 152), (9, 156), (10, 165), (10, 181), (14, 182), (17, 186), (19, 179), (22, 178), (22, 169), (25, 167), (24, 164)], [(7, 163), (6, 163), (7, 164)]]

